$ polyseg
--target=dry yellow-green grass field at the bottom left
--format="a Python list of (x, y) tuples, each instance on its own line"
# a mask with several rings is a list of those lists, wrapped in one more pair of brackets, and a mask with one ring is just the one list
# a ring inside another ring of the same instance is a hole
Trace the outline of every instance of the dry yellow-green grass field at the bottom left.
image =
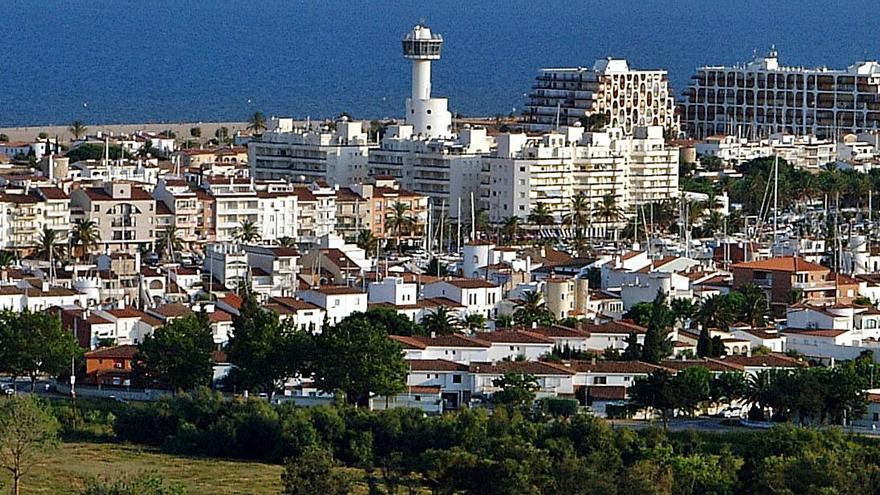
[[(281, 466), (177, 457), (111, 443), (63, 443), (24, 479), (22, 495), (77, 494), (89, 480), (144, 472), (182, 484), (187, 495), (276, 495)], [(0, 479), (8, 479), (5, 473)], [(8, 485), (7, 485), (8, 486)]]

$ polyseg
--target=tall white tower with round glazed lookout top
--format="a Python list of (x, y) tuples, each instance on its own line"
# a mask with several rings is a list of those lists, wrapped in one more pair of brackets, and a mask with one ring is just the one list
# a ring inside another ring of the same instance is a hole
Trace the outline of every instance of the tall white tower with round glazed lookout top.
[(412, 60), (412, 95), (406, 99), (406, 123), (425, 138), (447, 137), (452, 114), (446, 98), (431, 98), (431, 61), (440, 60), (443, 37), (421, 24), (403, 37), (403, 56)]

